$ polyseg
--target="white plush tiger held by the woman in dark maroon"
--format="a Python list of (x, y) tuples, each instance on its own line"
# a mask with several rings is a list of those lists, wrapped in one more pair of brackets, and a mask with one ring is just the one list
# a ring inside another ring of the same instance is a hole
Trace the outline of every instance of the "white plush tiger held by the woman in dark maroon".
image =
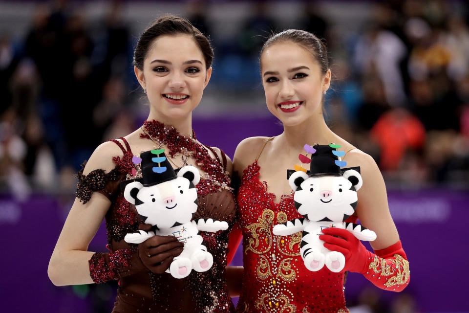
[(213, 256), (202, 245), (199, 230), (215, 232), (228, 229), (228, 223), (199, 219), (192, 221), (197, 210), (199, 171), (192, 165), (182, 167), (177, 175), (164, 155), (164, 149), (141, 154), (143, 183), (134, 181), (124, 190), (127, 201), (135, 204), (138, 214), (147, 224), (149, 232), (138, 230), (127, 234), (124, 240), (140, 244), (156, 235), (172, 235), (184, 243), (183, 252), (174, 258), (167, 272), (175, 278), (184, 278), (194, 269), (199, 272), (213, 265)]

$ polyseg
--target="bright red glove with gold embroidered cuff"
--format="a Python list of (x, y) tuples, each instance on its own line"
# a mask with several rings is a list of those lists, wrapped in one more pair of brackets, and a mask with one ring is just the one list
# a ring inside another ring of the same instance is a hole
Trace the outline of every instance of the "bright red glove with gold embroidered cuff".
[(401, 241), (374, 254), (348, 230), (329, 227), (322, 233), (319, 238), (324, 241), (324, 247), (341, 252), (345, 257), (344, 270), (362, 273), (384, 290), (402, 291), (409, 284), (409, 262)]

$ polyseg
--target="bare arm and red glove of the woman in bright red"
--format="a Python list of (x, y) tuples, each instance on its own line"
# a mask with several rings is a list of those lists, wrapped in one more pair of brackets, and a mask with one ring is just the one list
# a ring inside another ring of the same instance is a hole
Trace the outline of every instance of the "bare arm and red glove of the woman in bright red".
[(384, 179), (373, 158), (358, 150), (349, 153), (347, 166), (361, 168), (363, 185), (356, 212), (362, 225), (377, 234), (370, 243), (375, 253), (344, 229), (324, 229), (320, 239), (326, 248), (345, 256), (346, 270), (362, 273), (379, 288), (402, 291), (409, 283), (409, 263), (389, 213)]

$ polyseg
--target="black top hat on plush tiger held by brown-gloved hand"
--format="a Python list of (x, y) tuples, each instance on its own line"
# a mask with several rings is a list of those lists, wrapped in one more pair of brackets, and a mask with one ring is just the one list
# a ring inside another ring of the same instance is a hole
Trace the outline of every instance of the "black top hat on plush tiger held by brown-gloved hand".
[(140, 155), (144, 186), (153, 186), (176, 178), (171, 163), (166, 158), (165, 149), (153, 149)]

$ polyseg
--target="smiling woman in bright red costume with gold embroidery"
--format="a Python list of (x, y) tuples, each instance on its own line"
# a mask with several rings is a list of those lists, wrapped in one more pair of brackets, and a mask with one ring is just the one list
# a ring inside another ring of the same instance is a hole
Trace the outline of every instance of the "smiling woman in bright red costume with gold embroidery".
[[(244, 261), (237, 312), (349, 312), (343, 293), (347, 270), (362, 273), (379, 288), (403, 290), (409, 283), (408, 262), (378, 166), (324, 121), (322, 104), (331, 82), (325, 45), (306, 31), (283, 31), (263, 46), (260, 69), (267, 108), (283, 123), (284, 131), (271, 138), (247, 138), (236, 148), (234, 175), (241, 180), (237, 201)], [(304, 267), (299, 255), (301, 233), (286, 237), (272, 233), (274, 225), (301, 218), (286, 169), (298, 163), (306, 143), (338, 144), (347, 166), (361, 168), (357, 210), (347, 222), (360, 219), (377, 239), (371, 242), (373, 253), (347, 230), (324, 229), (320, 235), (324, 246), (345, 256), (345, 268), (339, 273)]]

